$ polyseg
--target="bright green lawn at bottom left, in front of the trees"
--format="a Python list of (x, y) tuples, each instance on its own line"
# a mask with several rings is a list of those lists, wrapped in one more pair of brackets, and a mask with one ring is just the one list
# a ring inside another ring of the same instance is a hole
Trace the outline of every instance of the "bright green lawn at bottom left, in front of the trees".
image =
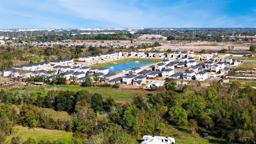
[[(32, 128), (23, 127), (23, 126), (15, 126), (17, 133), (13, 136), (20, 136), (22, 140), (26, 140), (27, 138), (35, 138), (38, 142), (42, 139), (47, 139), (50, 141), (63, 142), (67, 144), (72, 139), (71, 132), (64, 132), (60, 130), (47, 130), (44, 128), (36, 128), (33, 130)], [(13, 136), (8, 136), (6, 138), (6, 142), (10, 141)]]

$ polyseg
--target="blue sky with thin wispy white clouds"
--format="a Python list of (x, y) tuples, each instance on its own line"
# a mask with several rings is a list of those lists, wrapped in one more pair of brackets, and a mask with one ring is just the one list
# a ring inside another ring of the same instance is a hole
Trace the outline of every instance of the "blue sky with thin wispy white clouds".
[(256, 0), (0, 0), (0, 29), (182, 27), (256, 27)]

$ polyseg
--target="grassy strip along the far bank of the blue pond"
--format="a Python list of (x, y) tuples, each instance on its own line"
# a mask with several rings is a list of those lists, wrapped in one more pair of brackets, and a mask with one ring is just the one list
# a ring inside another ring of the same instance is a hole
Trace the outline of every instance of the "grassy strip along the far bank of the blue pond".
[(96, 64), (96, 65), (90, 65), (88, 67), (90, 67), (90, 68), (100, 68), (100, 67), (112, 65), (112, 64), (114, 64), (114, 62), (115, 63), (122, 63), (122, 62), (128, 62), (128, 61), (136, 61), (136, 60), (160, 62), (163, 59), (159, 59), (159, 58), (123, 58), (123, 59), (114, 60), (114, 61), (111, 61), (111, 62), (104, 62), (104, 63), (100, 63), (100, 64)]

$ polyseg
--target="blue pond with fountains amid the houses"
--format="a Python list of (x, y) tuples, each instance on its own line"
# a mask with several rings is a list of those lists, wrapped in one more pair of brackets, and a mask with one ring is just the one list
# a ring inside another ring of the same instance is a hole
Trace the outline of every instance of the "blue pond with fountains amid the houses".
[(105, 68), (109, 69), (109, 72), (120, 72), (122, 70), (129, 70), (134, 67), (140, 67), (147, 64), (151, 64), (153, 62), (150, 61), (129, 61), (129, 62), (122, 62), (119, 64), (112, 64), (110, 66), (104, 66)]

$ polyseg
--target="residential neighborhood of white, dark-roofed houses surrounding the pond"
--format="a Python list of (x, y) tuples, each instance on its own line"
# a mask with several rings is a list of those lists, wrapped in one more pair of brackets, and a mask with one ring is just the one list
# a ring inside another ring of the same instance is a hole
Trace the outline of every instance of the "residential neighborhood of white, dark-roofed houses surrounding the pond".
[[(88, 62), (105, 62), (125, 57), (136, 58), (162, 58), (161, 62), (151, 64), (150, 66), (133, 67), (126, 73), (110, 73), (108, 68), (90, 68), (85, 66)], [(226, 55), (230, 56), (230, 55)], [(240, 54), (240, 56), (244, 56)], [(75, 62), (76, 61), (76, 62)], [(61, 73), (66, 77), (67, 82), (82, 83), (86, 80), (86, 73), (90, 73), (91, 79), (94, 76), (100, 78), (101, 83), (124, 84), (133, 86), (144, 86), (148, 80), (164, 80), (173, 78), (177, 80), (198, 80), (204, 81), (210, 77), (227, 74), (232, 68), (240, 64), (240, 60), (233, 60), (224, 55), (218, 55), (217, 52), (194, 54), (188, 52), (106, 52), (104, 54), (82, 56), (77, 60), (63, 59), (54, 60), (49, 63), (40, 62), (37, 64), (23, 64), (2, 70), (1, 76), (7, 78), (26, 79), (32, 76), (44, 76), (45, 80), (53, 80), (59, 77)], [(147, 80), (148, 79), (148, 80)]]

